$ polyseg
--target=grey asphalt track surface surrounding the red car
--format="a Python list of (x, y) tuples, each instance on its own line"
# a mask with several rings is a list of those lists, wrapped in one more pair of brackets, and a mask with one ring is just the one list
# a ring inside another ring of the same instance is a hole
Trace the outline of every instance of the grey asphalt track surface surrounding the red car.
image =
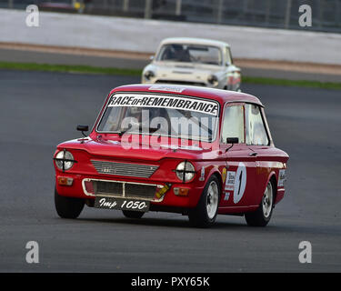
[[(285, 199), (265, 228), (218, 216), (210, 229), (186, 216), (54, 207), (55, 146), (92, 125), (105, 95), (136, 77), (0, 70), (1, 272), (340, 272), (341, 92), (244, 85), (266, 105), (276, 146), (289, 155)], [(39, 244), (39, 264), (25, 245)], [(312, 263), (300, 264), (301, 241)]]

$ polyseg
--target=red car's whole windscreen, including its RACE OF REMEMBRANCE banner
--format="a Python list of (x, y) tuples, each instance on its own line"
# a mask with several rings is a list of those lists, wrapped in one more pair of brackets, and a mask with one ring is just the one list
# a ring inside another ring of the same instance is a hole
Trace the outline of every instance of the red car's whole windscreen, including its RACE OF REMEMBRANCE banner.
[(151, 94), (115, 94), (105, 108), (97, 132), (194, 139), (216, 138), (219, 105), (216, 101)]

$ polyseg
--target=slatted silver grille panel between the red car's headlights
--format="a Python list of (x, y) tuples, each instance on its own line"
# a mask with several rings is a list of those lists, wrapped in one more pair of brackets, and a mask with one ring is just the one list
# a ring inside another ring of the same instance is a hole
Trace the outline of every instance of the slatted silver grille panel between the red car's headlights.
[(149, 178), (154, 174), (158, 166), (126, 164), (105, 161), (92, 160), (98, 174), (115, 175), (115, 176), (134, 176), (141, 178)]

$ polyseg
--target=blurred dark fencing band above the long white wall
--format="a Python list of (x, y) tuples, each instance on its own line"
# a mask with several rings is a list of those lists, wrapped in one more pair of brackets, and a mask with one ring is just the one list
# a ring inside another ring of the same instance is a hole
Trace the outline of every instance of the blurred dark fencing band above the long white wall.
[(0, 0), (2, 8), (117, 15), (221, 25), (299, 29), (298, 7), (310, 5), (308, 30), (341, 32), (341, 0)]

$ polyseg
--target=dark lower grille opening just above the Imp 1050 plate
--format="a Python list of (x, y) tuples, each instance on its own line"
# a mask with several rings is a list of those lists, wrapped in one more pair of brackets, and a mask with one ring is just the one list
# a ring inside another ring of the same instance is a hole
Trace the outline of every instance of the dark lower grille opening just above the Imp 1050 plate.
[(128, 182), (93, 181), (95, 196), (122, 196), (154, 199), (156, 186)]

